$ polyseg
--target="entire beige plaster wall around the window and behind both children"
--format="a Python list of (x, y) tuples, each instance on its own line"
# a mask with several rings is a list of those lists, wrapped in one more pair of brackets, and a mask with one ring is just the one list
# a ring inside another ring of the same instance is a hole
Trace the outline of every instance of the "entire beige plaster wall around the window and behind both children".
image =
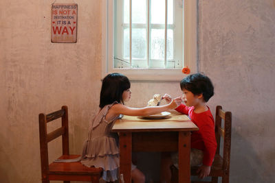
[[(0, 1), (1, 182), (39, 182), (40, 112), (69, 106), (70, 148), (80, 154), (98, 109), (100, 1), (75, 0), (76, 44), (50, 42), (52, 2)], [(209, 105), (233, 114), (231, 182), (274, 182), (274, 1), (198, 2), (199, 70), (215, 86)], [(177, 82), (132, 82), (132, 90), (127, 105), (137, 107), (154, 93), (180, 94)]]

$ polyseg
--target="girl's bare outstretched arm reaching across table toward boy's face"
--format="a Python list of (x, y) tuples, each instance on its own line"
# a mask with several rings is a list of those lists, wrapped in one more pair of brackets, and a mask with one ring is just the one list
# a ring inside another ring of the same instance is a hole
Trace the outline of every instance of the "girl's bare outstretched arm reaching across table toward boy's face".
[(113, 105), (109, 112), (113, 114), (124, 114), (127, 116), (148, 116), (166, 110), (173, 110), (174, 108), (177, 108), (177, 103), (175, 103), (174, 100), (164, 106), (148, 106), (145, 108), (130, 108), (119, 103)]

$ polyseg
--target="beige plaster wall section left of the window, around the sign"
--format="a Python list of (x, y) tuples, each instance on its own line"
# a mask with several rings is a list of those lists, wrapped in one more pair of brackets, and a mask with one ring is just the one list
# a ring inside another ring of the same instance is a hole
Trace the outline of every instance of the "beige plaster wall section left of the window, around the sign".
[[(85, 127), (98, 106), (100, 1), (75, 1), (76, 44), (51, 43), (53, 2), (0, 1), (0, 182), (41, 179), (40, 112), (69, 106), (70, 147), (72, 152), (80, 153)], [(53, 148), (50, 158), (60, 152)]]

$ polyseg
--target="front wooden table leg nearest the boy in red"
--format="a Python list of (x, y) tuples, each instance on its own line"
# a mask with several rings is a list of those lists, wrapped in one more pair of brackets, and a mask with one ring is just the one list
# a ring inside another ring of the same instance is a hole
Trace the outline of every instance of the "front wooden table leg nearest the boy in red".
[(179, 182), (190, 182), (190, 132), (179, 132)]

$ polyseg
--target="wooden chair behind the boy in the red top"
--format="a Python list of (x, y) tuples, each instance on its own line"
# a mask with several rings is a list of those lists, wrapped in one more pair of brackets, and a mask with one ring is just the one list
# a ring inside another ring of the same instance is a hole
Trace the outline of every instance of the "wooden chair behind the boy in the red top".
[[(222, 120), (223, 119), (223, 120)], [(221, 123), (224, 121), (224, 127)], [(214, 156), (214, 162), (211, 167), (210, 177), (212, 183), (217, 183), (218, 178), (222, 178), (223, 183), (229, 182), (229, 170), (230, 170), (230, 147), (231, 147), (231, 112), (225, 112), (221, 106), (216, 108), (215, 118), (215, 134), (217, 140), (217, 151)], [(220, 142), (223, 138), (223, 154), (220, 153)], [(191, 167), (191, 175), (197, 175), (197, 167)], [(198, 181), (194, 183), (199, 183)]]

